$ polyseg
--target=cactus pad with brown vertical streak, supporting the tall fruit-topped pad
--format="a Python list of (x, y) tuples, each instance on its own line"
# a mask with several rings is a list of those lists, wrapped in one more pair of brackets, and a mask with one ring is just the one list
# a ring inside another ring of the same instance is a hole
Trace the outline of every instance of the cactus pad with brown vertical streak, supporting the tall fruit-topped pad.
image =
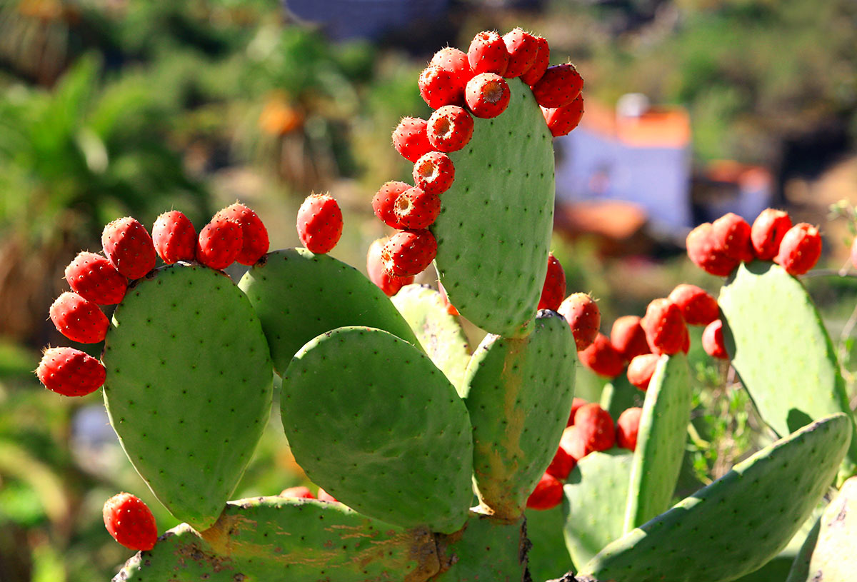
[(501, 517), (521, 514), (554, 459), (576, 363), (571, 328), (547, 309), (526, 338), (489, 334), (470, 360), (462, 392), (473, 424), (473, 479), (482, 506)]

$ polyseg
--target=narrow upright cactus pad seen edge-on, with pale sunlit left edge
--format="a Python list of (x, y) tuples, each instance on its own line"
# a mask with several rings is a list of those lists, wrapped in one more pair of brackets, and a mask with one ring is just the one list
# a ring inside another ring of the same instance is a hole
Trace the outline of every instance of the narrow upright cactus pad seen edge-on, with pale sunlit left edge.
[(687, 358), (682, 353), (662, 356), (651, 376), (640, 415), (623, 533), (667, 511), (673, 501), (691, 407)]

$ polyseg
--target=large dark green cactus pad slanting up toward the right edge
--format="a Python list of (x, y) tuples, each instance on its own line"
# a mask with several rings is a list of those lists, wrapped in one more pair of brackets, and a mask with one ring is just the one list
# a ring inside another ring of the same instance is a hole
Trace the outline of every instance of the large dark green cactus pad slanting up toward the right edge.
[(726, 582), (757, 570), (812, 514), (850, 438), (840, 412), (776, 441), (610, 543), (578, 581)]

